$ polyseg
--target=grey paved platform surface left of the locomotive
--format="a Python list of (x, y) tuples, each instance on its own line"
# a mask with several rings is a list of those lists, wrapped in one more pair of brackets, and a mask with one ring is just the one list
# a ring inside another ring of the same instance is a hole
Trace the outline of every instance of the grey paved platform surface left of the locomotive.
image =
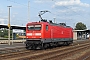
[(16, 47), (25, 47), (25, 43), (11, 43), (10, 45), (8, 44), (0, 44), (0, 49), (5, 49), (5, 48), (16, 48)]

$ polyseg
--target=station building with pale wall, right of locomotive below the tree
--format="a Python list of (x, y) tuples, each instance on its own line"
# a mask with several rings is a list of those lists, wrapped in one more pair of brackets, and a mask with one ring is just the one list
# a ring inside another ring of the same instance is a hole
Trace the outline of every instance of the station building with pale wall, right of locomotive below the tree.
[(73, 40), (90, 39), (90, 30), (73, 30)]

